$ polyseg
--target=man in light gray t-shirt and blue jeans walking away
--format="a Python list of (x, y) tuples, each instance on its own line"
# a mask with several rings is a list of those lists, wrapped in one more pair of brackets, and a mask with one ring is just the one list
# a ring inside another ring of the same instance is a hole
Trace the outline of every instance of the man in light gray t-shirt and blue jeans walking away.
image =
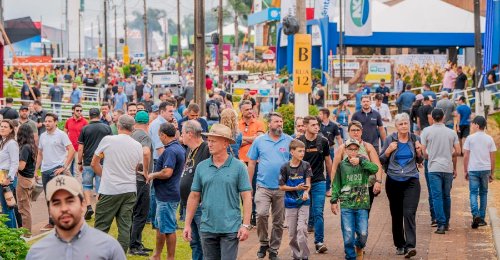
[(451, 186), (457, 177), (457, 158), (460, 144), (455, 131), (447, 128), (443, 121), (445, 113), (436, 108), (431, 113), (434, 124), (422, 132), (422, 150), (428, 160), (429, 186), (438, 224), (436, 234), (444, 234), (449, 228), (451, 211)]

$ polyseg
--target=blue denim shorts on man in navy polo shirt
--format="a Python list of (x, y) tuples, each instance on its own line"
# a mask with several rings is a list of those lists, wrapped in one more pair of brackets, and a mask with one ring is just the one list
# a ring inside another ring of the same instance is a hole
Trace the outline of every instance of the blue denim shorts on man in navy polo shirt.
[(177, 206), (179, 202), (164, 202), (156, 200), (155, 227), (162, 234), (175, 233), (177, 228)]

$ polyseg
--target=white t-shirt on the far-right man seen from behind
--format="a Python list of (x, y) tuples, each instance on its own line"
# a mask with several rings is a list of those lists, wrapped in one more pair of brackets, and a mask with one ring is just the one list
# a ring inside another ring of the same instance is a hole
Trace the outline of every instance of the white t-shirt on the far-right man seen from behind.
[(465, 139), (464, 149), (470, 151), (468, 171), (490, 171), (490, 153), (495, 152), (495, 141), (483, 131), (469, 135)]

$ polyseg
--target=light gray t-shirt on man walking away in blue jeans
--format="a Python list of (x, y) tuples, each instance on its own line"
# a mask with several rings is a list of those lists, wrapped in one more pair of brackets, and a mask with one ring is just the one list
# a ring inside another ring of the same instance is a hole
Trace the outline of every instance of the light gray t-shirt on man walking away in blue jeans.
[(457, 133), (444, 124), (426, 127), (420, 135), (429, 154), (429, 172), (453, 173), (453, 146), (458, 144)]

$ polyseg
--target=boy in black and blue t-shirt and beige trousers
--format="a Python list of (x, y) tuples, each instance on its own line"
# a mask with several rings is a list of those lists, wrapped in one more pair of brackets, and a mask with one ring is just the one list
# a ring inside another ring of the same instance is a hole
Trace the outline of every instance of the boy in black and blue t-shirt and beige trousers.
[(309, 219), (309, 189), (312, 170), (303, 161), (305, 154), (303, 142), (294, 139), (290, 143), (292, 159), (283, 164), (280, 170), (280, 190), (285, 191), (285, 218), (288, 221), (288, 236), (293, 259), (308, 259), (307, 221)]

